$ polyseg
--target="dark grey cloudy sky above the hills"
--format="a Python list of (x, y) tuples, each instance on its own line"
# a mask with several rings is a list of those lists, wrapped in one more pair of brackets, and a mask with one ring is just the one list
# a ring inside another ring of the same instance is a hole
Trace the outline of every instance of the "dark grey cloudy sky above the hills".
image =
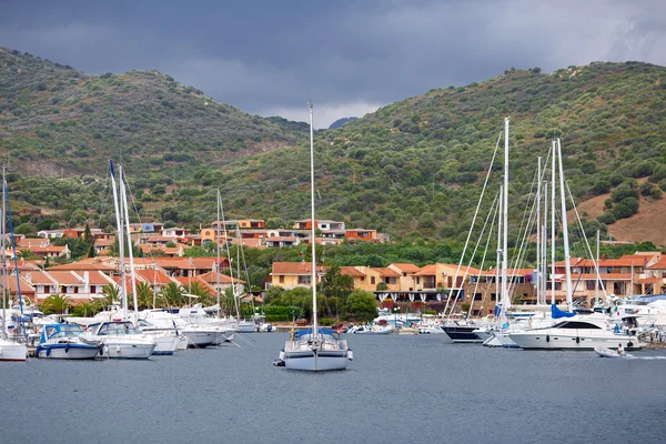
[(660, 0), (0, 0), (0, 46), (315, 127), (512, 67), (666, 65)]

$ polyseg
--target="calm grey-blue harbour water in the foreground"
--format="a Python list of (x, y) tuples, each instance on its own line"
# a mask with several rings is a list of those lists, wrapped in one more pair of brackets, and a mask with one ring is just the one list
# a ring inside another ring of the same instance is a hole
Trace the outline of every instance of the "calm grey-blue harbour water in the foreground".
[(0, 443), (666, 442), (666, 360), (347, 336), (355, 361), (321, 374), (272, 365), (284, 333), (149, 361), (0, 363)]

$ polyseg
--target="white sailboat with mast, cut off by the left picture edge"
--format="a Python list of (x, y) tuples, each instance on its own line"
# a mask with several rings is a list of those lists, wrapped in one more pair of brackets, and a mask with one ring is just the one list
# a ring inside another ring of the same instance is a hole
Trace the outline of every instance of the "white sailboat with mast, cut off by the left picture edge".
[[(7, 215), (6, 215), (6, 210), (7, 210), (7, 202), (8, 202), (8, 195), (7, 195), (7, 181), (4, 180), (4, 165), (2, 167), (2, 226), (0, 228), (0, 251), (2, 252), (2, 324), (0, 325), (0, 361), (26, 361), (27, 356), (28, 356), (28, 346), (26, 346), (26, 344), (21, 344), (20, 342), (10, 340), (8, 337), (7, 334), (7, 297), (9, 296), (9, 285), (8, 285), (8, 281), (7, 281), (7, 258), (6, 258), (6, 251), (7, 251), (7, 233), (6, 233), (6, 225), (7, 225)], [(12, 236), (13, 239), (13, 236)], [(16, 259), (16, 246), (13, 246), (13, 251), (14, 251), (14, 259)], [(19, 300), (21, 299), (21, 292), (20, 292), (20, 282), (19, 282), (19, 271), (18, 271), (18, 266), (17, 266), (17, 285), (19, 289)], [(22, 309), (22, 303), (21, 303), (21, 309)], [(20, 316), (22, 319), (22, 310), (20, 313)]]

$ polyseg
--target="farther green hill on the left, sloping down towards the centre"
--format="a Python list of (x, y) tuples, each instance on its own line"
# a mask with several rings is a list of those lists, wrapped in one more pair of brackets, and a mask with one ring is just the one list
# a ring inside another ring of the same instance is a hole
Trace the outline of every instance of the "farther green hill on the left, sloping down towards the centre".
[(220, 165), (302, 140), (307, 125), (218, 103), (158, 71), (88, 75), (0, 48), (0, 150), (19, 171), (103, 173)]

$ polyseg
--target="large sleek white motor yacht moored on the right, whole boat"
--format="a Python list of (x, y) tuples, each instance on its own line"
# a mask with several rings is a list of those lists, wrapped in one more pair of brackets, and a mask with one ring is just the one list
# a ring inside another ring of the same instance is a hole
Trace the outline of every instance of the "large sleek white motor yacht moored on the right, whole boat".
[(622, 344), (639, 350), (636, 336), (615, 333), (604, 319), (566, 319), (552, 326), (509, 333), (508, 337), (524, 350), (594, 350)]

